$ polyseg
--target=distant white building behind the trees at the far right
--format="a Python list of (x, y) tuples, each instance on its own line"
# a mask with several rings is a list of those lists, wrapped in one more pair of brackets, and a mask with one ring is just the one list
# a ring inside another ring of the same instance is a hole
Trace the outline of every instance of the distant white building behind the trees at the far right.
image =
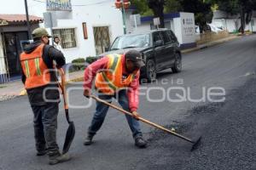
[[(229, 32), (236, 32), (241, 26), (240, 14), (230, 15), (224, 11), (213, 12), (212, 25), (221, 27)], [(252, 20), (246, 25), (245, 31), (256, 31), (256, 11), (253, 11)]]

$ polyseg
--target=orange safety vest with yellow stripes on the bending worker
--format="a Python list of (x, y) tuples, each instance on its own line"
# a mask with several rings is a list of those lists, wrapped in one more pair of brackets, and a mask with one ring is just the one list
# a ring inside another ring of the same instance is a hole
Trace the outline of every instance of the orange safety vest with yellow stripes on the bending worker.
[(95, 86), (103, 94), (114, 94), (120, 88), (128, 87), (135, 78), (137, 72), (129, 74), (123, 79), (122, 55), (109, 54), (108, 66), (105, 71), (96, 74)]

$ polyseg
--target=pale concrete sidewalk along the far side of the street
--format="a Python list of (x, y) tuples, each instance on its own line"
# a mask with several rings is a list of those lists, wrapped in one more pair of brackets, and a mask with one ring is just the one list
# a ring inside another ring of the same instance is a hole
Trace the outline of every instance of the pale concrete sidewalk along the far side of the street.
[[(205, 44), (198, 45), (196, 48), (189, 48), (189, 49), (182, 50), (182, 53), (186, 54), (186, 53), (200, 50), (202, 48), (212, 47), (214, 45), (217, 45), (223, 42), (228, 42), (235, 38), (238, 38), (238, 37), (230, 36), (214, 42), (208, 42)], [(84, 71), (72, 72), (67, 74), (67, 82), (83, 81), (83, 77), (84, 77)], [(11, 98), (14, 98), (15, 96), (20, 96), (20, 95), (26, 95), (26, 90), (24, 90), (23, 83), (20, 80), (15, 82), (0, 84), (0, 101), (5, 99), (11, 99)]]

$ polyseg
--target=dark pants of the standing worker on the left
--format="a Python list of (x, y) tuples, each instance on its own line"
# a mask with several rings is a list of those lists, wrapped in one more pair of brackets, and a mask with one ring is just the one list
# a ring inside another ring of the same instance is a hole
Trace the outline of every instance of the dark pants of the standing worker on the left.
[(32, 111), (36, 149), (38, 151), (47, 149), (49, 157), (60, 156), (59, 146), (56, 143), (59, 104), (32, 105)]

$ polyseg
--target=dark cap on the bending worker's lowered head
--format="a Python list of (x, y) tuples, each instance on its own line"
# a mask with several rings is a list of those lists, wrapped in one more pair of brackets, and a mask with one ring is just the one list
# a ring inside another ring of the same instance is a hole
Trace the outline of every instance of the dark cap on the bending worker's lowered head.
[(138, 68), (143, 67), (145, 64), (143, 62), (142, 54), (135, 49), (125, 53), (125, 59), (130, 59)]

